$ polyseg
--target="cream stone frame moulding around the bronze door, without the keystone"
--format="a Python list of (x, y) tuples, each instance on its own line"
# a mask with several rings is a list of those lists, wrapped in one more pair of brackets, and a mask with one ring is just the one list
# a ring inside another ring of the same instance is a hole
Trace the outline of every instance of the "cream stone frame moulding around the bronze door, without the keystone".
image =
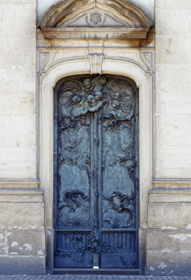
[[(139, 50), (134, 50), (137, 53)], [(131, 50), (132, 52), (132, 50)], [(154, 74), (145, 63), (132, 59), (113, 57), (102, 62), (102, 73), (131, 78), (139, 88), (139, 175), (140, 175), (140, 230), (139, 274), (145, 274), (145, 235), (147, 228), (148, 191), (152, 182), (152, 96)], [(88, 58), (58, 62), (49, 65), (39, 76), (39, 179), (44, 191), (45, 228), (47, 229), (47, 273), (53, 265), (53, 89), (61, 78), (77, 74), (89, 74)], [(50, 237), (52, 236), (52, 237)]]

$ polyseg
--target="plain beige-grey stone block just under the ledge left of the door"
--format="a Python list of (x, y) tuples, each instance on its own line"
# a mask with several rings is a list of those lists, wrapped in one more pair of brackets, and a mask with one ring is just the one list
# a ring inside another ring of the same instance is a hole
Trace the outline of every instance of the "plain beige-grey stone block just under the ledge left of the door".
[(44, 228), (44, 203), (0, 202), (0, 228)]

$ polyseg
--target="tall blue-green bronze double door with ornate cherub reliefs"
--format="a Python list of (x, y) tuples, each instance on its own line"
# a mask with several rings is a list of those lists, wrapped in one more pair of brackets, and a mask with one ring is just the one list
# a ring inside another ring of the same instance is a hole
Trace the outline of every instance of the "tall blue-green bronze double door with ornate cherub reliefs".
[(138, 268), (138, 110), (138, 89), (126, 77), (57, 83), (55, 268)]

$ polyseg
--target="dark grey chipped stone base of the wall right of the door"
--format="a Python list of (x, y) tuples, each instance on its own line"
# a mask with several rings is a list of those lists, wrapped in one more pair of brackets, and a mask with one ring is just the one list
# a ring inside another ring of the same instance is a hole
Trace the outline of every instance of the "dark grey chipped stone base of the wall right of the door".
[(146, 240), (147, 274), (191, 274), (191, 229), (147, 230)]

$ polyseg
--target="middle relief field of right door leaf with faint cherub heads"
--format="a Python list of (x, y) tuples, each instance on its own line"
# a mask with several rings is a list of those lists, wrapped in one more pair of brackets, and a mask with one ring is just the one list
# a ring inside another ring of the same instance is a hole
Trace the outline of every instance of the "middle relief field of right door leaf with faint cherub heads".
[(103, 186), (113, 186), (116, 191), (131, 195), (132, 176), (129, 167), (134, 163), (134, 137), (131, 128), (124, 127), (118, 133), (103, 132), (104, 174)]

